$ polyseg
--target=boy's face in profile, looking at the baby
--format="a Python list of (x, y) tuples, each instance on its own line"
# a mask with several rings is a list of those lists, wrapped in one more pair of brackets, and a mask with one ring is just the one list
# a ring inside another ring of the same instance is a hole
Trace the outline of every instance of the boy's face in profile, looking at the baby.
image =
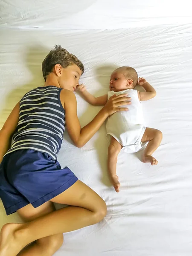
[(79, 78), (81, 77), (81, 70), (76, 64), (62, 68), (61, 76), (58, 79), (59, 85), (63, 89), (74, 92), (77, 85), (79, 85)]

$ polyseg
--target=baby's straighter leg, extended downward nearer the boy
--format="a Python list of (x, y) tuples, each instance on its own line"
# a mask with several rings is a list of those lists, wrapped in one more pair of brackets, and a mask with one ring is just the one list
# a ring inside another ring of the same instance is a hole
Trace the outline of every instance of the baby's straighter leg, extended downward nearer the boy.
[(116, 192), (119, 192), (121, 186), (116, 175), (117, 156), (121, 149), (122, 145), (115, 138), (111, 137), (111, 143), (108, 147), (108, 174)]

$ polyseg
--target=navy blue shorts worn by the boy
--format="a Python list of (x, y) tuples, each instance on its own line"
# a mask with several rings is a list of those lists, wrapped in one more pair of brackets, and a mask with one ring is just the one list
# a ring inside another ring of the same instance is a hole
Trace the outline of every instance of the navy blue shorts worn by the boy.
[(61, 194), (78, 178), (57, 160), (32, 149), (7, 154), (0, 164), (0, 198), (9, 215), (32, 204), (38, 207)]

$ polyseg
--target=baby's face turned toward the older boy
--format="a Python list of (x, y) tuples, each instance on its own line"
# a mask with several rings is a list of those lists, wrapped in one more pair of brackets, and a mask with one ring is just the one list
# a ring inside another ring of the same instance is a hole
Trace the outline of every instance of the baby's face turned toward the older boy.
[(109, 89), (114, 92), (119, 92), (126, 89), (131, 89), (133, 80), (126, 79), (124, 74), (119, 71), (114, 71), (111, 74), (111, 79), (109, 82)]

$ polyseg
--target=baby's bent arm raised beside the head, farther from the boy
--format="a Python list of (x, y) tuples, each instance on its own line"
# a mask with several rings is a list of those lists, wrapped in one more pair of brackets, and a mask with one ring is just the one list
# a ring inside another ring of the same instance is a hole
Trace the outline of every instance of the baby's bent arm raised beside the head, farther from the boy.
[(139, 78), (138, 85), (142, 86), (146, 92), (138, 92), (139, 100), (148, 100), (156, 96), (156, 90), (143, 77)]

